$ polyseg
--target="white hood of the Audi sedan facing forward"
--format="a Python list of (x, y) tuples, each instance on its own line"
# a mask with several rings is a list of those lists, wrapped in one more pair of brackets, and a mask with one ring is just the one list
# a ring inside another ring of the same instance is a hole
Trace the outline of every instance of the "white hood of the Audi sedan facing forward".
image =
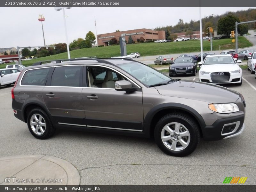
[(233, 64), (214, 64), (214, 65), (202, 65), (200, 70), (207, 72), (229, 72), (238, 70), (239, 66), (236, 63)]

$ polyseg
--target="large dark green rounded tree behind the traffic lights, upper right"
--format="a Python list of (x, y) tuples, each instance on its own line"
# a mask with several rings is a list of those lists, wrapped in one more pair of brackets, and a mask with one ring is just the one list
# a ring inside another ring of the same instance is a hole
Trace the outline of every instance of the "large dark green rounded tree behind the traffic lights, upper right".
[(236, 21), (239, 23), (240, 20), (238, 17), (230, 14), (226, 17), (222, 17), (218, 20), (218, 34), (225, 34), (226, 36), (229, 36), (231, 31), (235, 30), (235, 24)]

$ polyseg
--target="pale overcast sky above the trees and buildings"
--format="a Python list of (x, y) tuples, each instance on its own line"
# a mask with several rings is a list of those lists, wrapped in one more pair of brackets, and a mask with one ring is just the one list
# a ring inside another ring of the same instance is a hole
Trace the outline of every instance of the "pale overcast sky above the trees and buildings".
[[(255, 7), (202, 7), (202, 18), (221, 15), (228, 11), (241, 11)], [(45, 44), (66, 43), (62, 11), (54, 7), (0, 7), (0, 48), (43, 46), (42, 24), (38, 21), (43, 14)], [(68, 43), (92, 31), (97, 35), (120, 31), (148, 28), (154, 29), (176, 25), (181, 18), (184, 23), (199, 20), (199, 7), (73, 7), (65, 9)]]

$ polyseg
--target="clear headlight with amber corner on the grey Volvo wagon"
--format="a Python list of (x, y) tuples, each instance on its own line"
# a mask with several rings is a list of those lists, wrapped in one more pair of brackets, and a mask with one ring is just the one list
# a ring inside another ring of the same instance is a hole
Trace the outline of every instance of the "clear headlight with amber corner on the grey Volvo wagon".
[(208, 107), (217, 113), (234, 113), (239, 111), (235, 103), (209, 104)]

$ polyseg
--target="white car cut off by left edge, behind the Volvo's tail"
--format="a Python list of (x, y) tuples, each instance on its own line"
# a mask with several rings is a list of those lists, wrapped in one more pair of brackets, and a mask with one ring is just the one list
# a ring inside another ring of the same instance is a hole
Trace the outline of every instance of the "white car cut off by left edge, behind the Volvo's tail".
[(14, 84), (20, 74), (19, 69), (11, 68), (11, 69), (0, 69), (0, 86), (7, 85), (10, 86)]

